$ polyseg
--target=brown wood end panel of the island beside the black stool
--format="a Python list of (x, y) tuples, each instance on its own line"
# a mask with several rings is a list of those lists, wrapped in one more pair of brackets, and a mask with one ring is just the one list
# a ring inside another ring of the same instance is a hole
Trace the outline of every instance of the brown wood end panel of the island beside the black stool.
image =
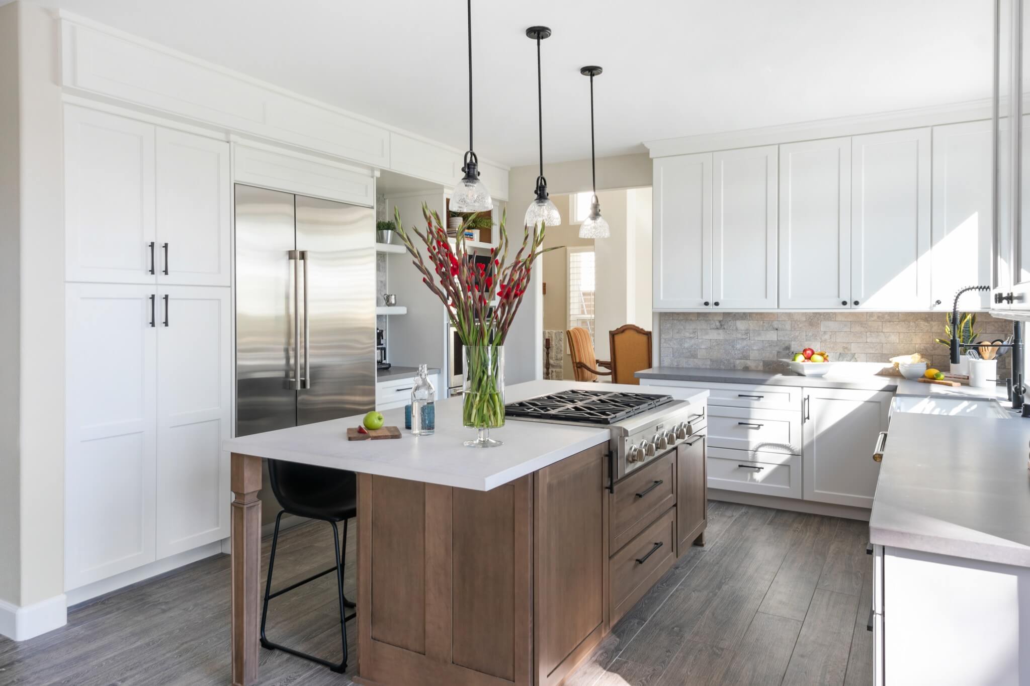
[(358, 478), (358, 676), (533, 686), (533, 476), (469, 491)]

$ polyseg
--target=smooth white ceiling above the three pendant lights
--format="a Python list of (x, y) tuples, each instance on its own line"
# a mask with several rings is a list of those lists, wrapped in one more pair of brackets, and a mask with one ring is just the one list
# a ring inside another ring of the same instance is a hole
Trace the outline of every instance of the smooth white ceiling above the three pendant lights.
[[(0, 0), (2, 2), (3, 0)], [(465, 148), (464, 0), (32, 0)], [(986, 0), (473, 2), (476, 150), (545, 160), (642, 141), (986, 98)]]

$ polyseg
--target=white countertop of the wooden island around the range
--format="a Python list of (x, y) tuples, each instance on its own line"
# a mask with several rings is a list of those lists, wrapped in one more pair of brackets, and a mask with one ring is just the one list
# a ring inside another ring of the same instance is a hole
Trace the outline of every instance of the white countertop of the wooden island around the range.
[[(707, 391), (687, 388), (658, 391), (617, 384), (536, 381), (507, 387), (505, 401), (516, 402), (569, 389), (662, 393), (695, 402), (705, 402), (708, 397)], [(271, 460), (489, 491), (606, 442), (610, 435), (604, 427), (509, 419), (504, 427), (490, 430), (490, 437), (504, 441), (504, 445), (471, 448), (461, 444), (475, 438), (476, 432), (461, 426), (460, 397), (436, 403), (436, 433), (432, 436), (413, 436), (405, 430), (403, 407), (386, 410), (383, 416), (386, 426), (401, 429), (400, 439), (348, 441), (347, 427), (358, 426), (362, 414), (232, 438), (222, 446), (232, 453)]]

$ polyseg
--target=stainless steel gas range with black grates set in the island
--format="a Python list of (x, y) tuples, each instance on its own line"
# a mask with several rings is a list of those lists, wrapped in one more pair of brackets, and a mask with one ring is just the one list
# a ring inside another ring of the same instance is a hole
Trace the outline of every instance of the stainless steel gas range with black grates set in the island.
[(689, 439), (702, 428), (703, 405), (670, 395), (620, 391), (561, 391), (505, 405), (505, 417), (549, 424), (607, 426), (618, 480)]

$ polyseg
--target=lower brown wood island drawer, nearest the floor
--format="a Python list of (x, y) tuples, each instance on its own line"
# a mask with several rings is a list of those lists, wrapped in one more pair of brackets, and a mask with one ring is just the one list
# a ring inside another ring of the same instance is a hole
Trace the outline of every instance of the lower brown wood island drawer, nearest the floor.
[(614, 625), (676, 561), (676, 508), (662, 514), (610, 561)]

